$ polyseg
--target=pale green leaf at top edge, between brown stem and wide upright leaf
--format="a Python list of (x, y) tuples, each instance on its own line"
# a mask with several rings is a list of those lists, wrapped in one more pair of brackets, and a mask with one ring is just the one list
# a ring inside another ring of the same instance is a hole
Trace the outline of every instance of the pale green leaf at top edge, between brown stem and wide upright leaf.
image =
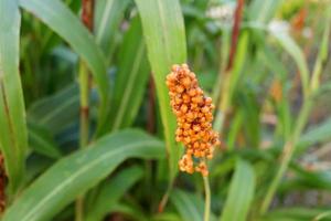
[(115, 35), (124, 17), (124, 11), (129, 0), (98, 0), (95, 11), (95, 35), (96, 41), (103, 49), (107, 62), (115, 48)]

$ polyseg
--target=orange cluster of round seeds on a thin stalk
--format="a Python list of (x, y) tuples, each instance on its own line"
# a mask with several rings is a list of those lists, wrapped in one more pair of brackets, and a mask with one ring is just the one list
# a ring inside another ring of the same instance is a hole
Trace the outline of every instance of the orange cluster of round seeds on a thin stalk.
[[(204, 96), (195, 74), (186, 64), (172, 66), (167, 86), (177, 116), (175, 140), (185, 146), (185, 154), (179, 161), (180, 170), (207, 176), (205, 159), (213, 158), (213, 148), (220, 145), (218, 134), (212, 129), (212, 98)], [(200, 161), (197, 166), (194, 158)]]

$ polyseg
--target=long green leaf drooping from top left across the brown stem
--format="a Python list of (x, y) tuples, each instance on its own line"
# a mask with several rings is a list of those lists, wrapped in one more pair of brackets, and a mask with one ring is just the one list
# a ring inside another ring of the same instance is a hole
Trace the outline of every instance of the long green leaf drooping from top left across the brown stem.
[(106, 75), (106, 62), (93, 35), (60, 0), (20, 0), (20, 4), (68, 42), (86, 62), (97, 84), (100, 97), (99, 124), (105, 123), (109, 85)]

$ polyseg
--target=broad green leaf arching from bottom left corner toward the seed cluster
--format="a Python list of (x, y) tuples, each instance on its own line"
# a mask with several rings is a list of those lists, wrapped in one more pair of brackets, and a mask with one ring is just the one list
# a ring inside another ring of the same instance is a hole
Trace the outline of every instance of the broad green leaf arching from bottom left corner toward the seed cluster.
[(161, 141), (139, 130), (105, 136), (57, 161), (7, 210), (3, 221), (50, 220), (77, 196), (105, 179), (125, 159), (162, 158)]

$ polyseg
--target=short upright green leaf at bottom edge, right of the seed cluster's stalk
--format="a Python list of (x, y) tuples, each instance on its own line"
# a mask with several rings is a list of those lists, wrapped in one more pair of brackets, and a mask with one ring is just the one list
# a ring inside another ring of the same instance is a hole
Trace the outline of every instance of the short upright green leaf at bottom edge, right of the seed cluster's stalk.
[(248, 162), (238, 159), (221, 220), (245, 221), (254, 197), (254, 169)]

